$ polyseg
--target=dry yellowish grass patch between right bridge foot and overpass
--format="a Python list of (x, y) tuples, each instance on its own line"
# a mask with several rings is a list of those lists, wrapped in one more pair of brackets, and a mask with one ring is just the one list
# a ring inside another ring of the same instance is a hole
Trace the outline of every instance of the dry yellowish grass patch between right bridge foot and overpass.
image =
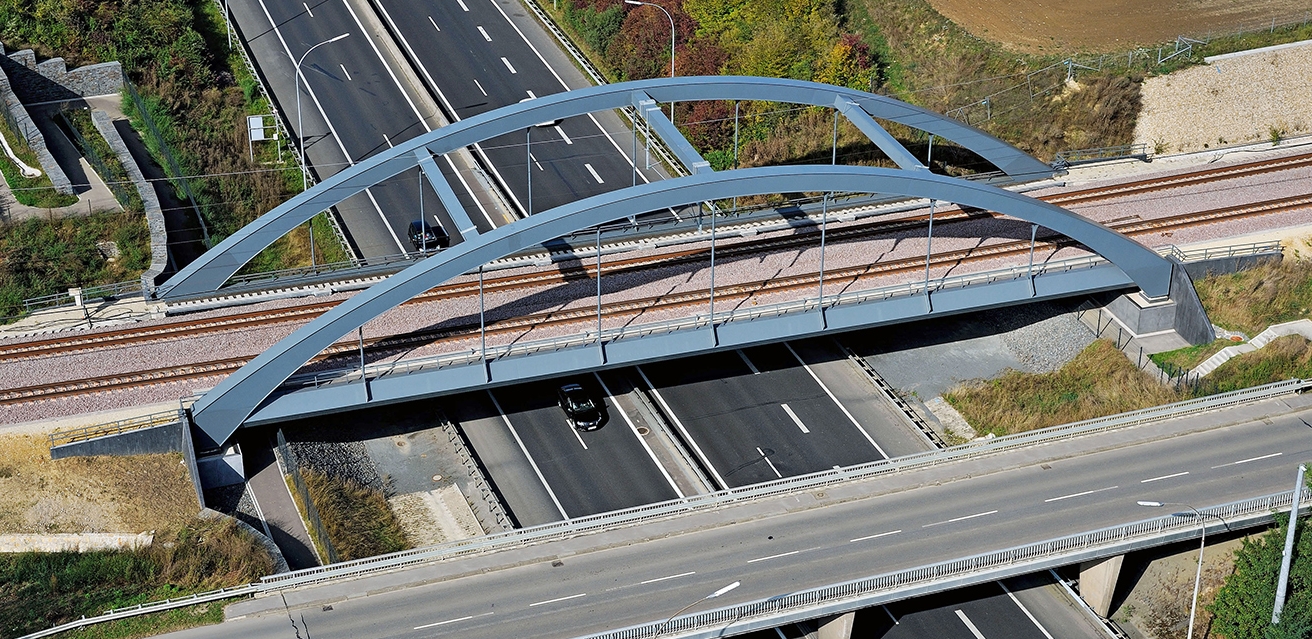
[(1186, 399), (1098, 340), (1055, 373), (1006, 371), (943, 394), (980, 434), (1010, 434)]

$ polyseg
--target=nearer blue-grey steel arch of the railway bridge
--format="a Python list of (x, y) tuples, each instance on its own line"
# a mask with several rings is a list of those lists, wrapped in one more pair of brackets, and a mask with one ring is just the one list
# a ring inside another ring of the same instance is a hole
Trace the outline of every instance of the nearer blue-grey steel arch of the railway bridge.
[(214, 443), (227, 441), (283, 381), (341, 336), (425, 290), (525, 247), (622, 219), (632, 211), (789, 192), (884, 193), (1004, 211), (1078, 240), (1115, 264), (1149, 297), (1170, 291), (1172, 262), (1156, 252), (1061, 207), (996, 186), (926, 171), (842, 165), (703, 173), (604, 193), (466, 239), (300, 327), (206, 392), (192, 407), (192, 417)]

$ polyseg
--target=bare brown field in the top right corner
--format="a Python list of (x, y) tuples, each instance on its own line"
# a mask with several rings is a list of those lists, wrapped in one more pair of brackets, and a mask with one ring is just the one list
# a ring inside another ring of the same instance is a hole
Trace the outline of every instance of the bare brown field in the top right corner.
[(929, 0), (976, 37), (1025, 52), (1099, 52), (1303, 20), (1307, 0)]

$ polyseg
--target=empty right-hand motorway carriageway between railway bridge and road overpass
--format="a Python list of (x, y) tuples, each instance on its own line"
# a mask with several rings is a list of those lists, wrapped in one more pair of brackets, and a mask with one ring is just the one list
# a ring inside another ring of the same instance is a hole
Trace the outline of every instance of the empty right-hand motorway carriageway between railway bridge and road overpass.
[(789, 348), (771, 344), (639, 367), (722, 485), (887, 458)]

